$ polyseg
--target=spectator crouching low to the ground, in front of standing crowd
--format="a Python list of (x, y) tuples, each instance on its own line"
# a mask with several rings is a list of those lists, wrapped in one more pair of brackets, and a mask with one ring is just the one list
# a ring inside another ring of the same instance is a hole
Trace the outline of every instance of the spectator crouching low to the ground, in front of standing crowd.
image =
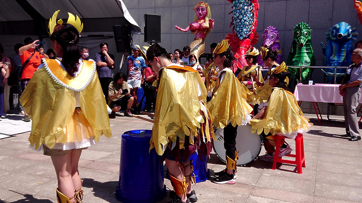
[(126, 75), (119, 72), (115, 75), (113, 81), (108, 86), (108, 103), (112, 109), (109, 118), (116, 118), (116, 112), (121, 109), (121, 106), (127, 106), (124, 112), (125, 116), (132, 117), (131, 107), (133, 104), (133, 96), (130, 95), (131, 89), (126, 82)]

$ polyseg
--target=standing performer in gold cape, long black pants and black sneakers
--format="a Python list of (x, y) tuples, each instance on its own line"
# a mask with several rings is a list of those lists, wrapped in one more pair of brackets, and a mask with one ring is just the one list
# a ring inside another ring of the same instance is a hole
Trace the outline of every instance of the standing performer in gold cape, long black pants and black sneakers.
[(246, 125), (251, 119), (250, 105), (243, 99), (245, 91), (232, 73), (230, 67), (233, 58), (226, 40), (214, 50), (214, 64), (219, 67), (214, 95), (207, 107), (216, 128), (224, 129), (224, 147), (226, 149), (226, 169), (215, 173), (212, 181), (219, 184), (234, 184), (236, 173), (236, 135), (238, 125)]

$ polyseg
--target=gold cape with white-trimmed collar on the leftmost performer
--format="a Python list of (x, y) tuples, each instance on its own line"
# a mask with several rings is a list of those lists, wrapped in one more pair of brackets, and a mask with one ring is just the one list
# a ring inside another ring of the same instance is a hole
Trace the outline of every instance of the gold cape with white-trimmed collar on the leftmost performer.
[(83, 61), (81, 72), (71, 77), (57, 61), (43, 59), (44, 67), (38, 69), (20, 101), (32, 119), (29, 142), (35, 149), (45, 143), (53, 148), (56, 142), (65, 143), (62, 130), (71, 119), (76, 102), (74, 91), (79, 91), (80, 107), (89, 124), (94, 128), (94, 139), (102, 134), (112, 136), (106, 100), (96, 73), (96, 63)]

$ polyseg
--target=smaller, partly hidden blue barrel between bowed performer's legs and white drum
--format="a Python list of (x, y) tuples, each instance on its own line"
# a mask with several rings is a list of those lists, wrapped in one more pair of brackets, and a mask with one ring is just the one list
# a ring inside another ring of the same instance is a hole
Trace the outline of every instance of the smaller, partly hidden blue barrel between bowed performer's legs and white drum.
[(207, 168), (207, 157), (201, 160), (199, 155), (195, 152), (190, 156), (193, 160), (194, 174), (196, 182), (203, 182), (209, 178), (210, 170)]

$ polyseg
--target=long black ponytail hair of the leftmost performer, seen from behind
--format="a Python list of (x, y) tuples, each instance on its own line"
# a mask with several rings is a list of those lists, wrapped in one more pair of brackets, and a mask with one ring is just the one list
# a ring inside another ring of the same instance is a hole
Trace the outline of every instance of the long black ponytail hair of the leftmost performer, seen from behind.
[(79, 59), (81, 57), (78, 46), (78, 30), (67, 23), (57, 25), (50, 36), (50, 40), (57, 41), (63, 48), (63, 58), (61, 63), (68, 74), (75, 77), (75, 73), (78, 72)]

